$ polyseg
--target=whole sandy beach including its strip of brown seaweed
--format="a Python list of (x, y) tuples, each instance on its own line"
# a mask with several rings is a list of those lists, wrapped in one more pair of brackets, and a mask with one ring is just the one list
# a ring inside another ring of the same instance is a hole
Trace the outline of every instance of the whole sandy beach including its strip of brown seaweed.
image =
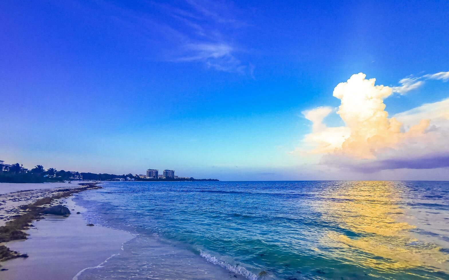
[[(83, 213), (87, 210), (73, 199), (73, 194), (100, 188), (96, 183), (82, 183), (0, 195), (4, 224), (0, 226), (0, 278), (72, 279), (80, 271), (101, 265), (119, 253), (123, 243), (134, 236), (111, 228), (86, 226)], [(54, 205), (69, 207), (71, 214), (40, 214), (43, 207)]]

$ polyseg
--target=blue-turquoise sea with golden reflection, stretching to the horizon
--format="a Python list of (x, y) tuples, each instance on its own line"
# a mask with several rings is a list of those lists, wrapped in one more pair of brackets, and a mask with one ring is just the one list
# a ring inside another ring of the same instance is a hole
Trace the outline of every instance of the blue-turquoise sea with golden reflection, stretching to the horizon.
[(449, 279), (449, 182), (110, 182), (94, 224), (136, 235), (78, 279)]

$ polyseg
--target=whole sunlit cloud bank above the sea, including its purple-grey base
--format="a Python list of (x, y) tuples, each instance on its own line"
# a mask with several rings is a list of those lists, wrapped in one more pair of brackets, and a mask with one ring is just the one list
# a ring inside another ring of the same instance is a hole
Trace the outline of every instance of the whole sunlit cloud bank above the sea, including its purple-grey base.
[(448, 167), (449, 99), (388, 118), (383, 99), (391, 94), (391, 87), (376, 86), (374, 78), (352, 75), (333, 94), (341, 100), (337, 114), (345, 126), (322, 123), (329, 107), (304, 111), (313, 129), (293, 153), (321, 154), (321, 164), (360, 172)]

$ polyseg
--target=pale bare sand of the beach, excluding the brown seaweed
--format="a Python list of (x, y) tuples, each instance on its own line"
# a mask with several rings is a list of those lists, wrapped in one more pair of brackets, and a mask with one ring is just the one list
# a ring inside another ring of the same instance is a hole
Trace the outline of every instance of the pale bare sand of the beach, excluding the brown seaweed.
[[(0, 190), (16, 192), (0, 195), (1, 225), (13, 215), (24, 212), (19, 206), (35, 202), (62, 189), (80, 187), (77, 184), (0, 184)], [(36, 190), (30, 190), (35, 185)], [(47, 187), (47, 188), (44, 188)], [(17, 192), (18, 191), (18, 192)], [(87, 190), (88, 191), (88, 190)], [(87, 226), (83, 218), (85, 208), (76, 205), (74, 196), (54, 201), (62, 202), (71, 215), (45, 215), (45, 219), (33, 221), (34, 227), (26, 230), (30, 234), (27, 240), (2, 243), (13, 251), (28, 254), (28, 258), (15, 258), (2, 262), (0, 279), (73, 279), (80, 271), (97, 267), (114, 254), (119, 254), (123, 242), (133, 236), (129, 233)], [(76, 214), (80, 212), (80, 214)]]

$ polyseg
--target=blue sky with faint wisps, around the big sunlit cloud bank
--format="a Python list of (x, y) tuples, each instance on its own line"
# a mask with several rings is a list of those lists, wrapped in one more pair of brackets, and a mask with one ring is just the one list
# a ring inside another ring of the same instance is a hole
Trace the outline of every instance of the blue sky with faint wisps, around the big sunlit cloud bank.
[[(2, 1), (0, 157), (222, 180), (406, 178), (416, 172), (332, 173), (289, 152), (311, 132), (302, 112), (338, 107), (352, 74), (400, 86), (449, 71), (448, 13), (447, 1)], [(448, 97), (429, 79), (384, 103), (394, 115)]]

